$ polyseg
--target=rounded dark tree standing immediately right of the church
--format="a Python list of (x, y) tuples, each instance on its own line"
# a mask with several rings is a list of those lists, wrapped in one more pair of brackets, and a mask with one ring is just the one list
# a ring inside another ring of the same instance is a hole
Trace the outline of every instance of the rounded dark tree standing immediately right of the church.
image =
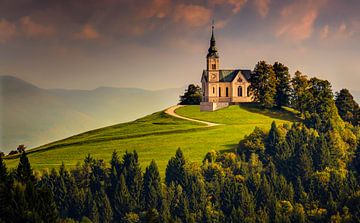
[(256, 64), (250, 78), (251, 89), (256, 101), (265, 108), (275, 105), (277, 80), (273, 67), (265, 61)]

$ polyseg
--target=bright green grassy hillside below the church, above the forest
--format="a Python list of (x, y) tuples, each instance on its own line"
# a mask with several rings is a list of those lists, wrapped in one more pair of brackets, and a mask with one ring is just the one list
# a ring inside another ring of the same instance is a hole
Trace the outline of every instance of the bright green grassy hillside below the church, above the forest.
[[(136, 150), (143, 168), (155, 159), (164, 174), (168, 160), (179, 147), (189, 161), (201, 162), (211, 149), (234, 150), (255, 126), (269, 129), (273, 120), (278, 124), (296, 121), (291, 111), (261, 110), (253, 105), (234, 105), (215, 112), (200, 112), (199, 106), (185, 106), (177, 109), (176, 113), (222, 125), (206, 127), (174, 118), (162, 111), (133, 122), (85, 132), (34, 148), (28, 151), (28, 157), (33, 169), (41, 170), (58, 167), (62, 161), (71, 168), (87, 154), (108, 163), (114, 150), (120, 155), (126, 150)], [(16, 167), (17, 162), (17, 158), (6, 160), (10, 168)]]

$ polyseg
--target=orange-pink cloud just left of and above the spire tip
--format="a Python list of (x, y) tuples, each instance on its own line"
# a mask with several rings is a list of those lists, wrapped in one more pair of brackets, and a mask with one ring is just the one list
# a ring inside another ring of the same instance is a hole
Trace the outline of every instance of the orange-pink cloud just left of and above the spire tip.
[(203, 26), (209, 23), (212, 11), (200, 5), (178, 5), (174, 10), (173, 19), (184, 22), (191, 27)]

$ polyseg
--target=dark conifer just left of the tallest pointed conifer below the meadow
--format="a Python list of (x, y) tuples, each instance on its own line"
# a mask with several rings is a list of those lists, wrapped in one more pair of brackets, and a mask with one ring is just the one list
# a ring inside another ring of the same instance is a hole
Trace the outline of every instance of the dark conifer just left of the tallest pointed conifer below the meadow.
[(162, 203), (161, 179), (154, 160), (146, 168), (143, 182), (142, 197), (144, 208), (149, 211), (152, 209), (159, 211)]

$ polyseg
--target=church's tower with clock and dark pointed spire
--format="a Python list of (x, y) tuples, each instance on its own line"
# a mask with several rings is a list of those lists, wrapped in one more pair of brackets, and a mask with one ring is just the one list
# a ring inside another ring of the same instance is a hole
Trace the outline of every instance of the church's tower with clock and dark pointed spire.
[(214, 24), (211, 27), (210, 47), (206, 55), (206, 70), (209, 74), (209, 82), (219, 81), (219, 54), (216, 49)]

